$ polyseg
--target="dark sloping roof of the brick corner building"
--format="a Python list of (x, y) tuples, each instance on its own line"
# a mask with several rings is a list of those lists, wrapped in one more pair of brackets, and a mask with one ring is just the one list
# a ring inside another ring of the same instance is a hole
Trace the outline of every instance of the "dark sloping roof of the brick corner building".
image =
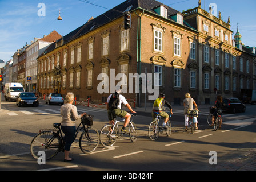
[[(155, 0), (127, 0), (115, 7), (113, 9), (110, 9), (109, 11), (106, 11), (105, 13), (97, 16), (96, 18), (91, 18), (88, 20), (85, 24), (78, 27), (74, 31), (70, 32), (69, 34), (63, 36), (62, 38), (58, 39), (57, 42), (63, 42), (68, 43), (71, 42), (74, 39), (79, 38), (82, 35), (87, 34), (88, 32), (94, 30), (95, 28), (101, 27), (104, 24), (110, 23), (111, 21), (120, 18), (123, 16), (123, 13), (127, 10), (134, 11), (136, 9), (143, 9), (147, 11), (148, 13), (155, 14), (159, 16), (154, 9), (156, 7), (159, 7), (163, 5), (163, 3), (155, 1)], [(173, 19), (170, 18), (170, 15), (177, 14), (179, 11), (174, 10), (173, 8), (163, 5), (167, 8), (168, 12), (168, 19), (172, 22), (174, 22)], [(183, 24), (186, 27), (187, 24)], [(44, 53), (51, 52), (53, 49), (55, 49), (55, 43), (53, 43), (51, 46), (49, 46)], [(44, 54), (40, 55), (39, 57), (43, 56)]]

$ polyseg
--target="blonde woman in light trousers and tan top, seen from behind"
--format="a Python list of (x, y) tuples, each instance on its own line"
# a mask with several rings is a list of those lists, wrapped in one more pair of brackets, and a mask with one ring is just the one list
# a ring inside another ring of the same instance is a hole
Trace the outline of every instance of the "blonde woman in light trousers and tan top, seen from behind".
[[(185, 118), (185, 126), (186, 126), (185, 131), (187, 131), (187, 126), (189, 125), (189, 117), (187, 116), (187, 111), (189, 109), (194, 110), (193, 105), (195, 105), (195, 110), (198, 110), (198, 109), (197, 109), (197, 104), (195, 103), (194, 99), (191, 98), (189, 93), (185, 94), (185, 99), (183, 101), (183, 105), (184, 105), (184, 118)], [(197, 117), (194, 117), (194, 119), (195, 119), (195, 129), (198, 130)]]

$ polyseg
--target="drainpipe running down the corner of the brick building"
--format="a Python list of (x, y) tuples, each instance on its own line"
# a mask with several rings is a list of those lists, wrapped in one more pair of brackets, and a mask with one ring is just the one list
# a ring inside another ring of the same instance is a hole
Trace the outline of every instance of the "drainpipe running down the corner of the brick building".
[[(138, 17), (138, 27), (137, 27), (137, 73), (141, 75), (141, 17), (144, 14), (144, 10), (141, 16), (135, 13)], [(141, 84), (139, 84), (139, 94), (136, 94), (136, 102), (138, 106), (141, 106)]]

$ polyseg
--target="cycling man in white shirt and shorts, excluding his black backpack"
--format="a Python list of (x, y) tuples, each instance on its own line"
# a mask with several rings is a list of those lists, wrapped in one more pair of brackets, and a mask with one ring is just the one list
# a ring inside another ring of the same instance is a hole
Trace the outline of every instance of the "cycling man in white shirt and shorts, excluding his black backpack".
[(117, 89), (117, 90), (115, 90), (115, 92), (117, 92), (119, 94), (119, 100), (120, 100), (119, 105), (117, 106), (117, 109), (113, 109), (109, 106), (109, 101), (110, 101), (112, 94), (110, 94), (110, 96), (107, 98), (107, 114), (109, 117), (109, 123), (110, 123), (110, 125), (114, 124), (114, 118), (113, 118), (114, 115), (116, 115), (118, 117), (125, 118), (125, 122), (123, 123), (121, 132), (128, 133), (128, 131), (126, 130), (126, 126), (128, 125), (128, 123), (130, 121), (131, 114), (127, 113), (125, 110), (122, 110), (122, 104), (126, 105), (126, 107), (132, 113), (136, 113), (136, 112), (131, 108), (130, 104), (126, 101), (125, 97), (121, 95), (121, 93), (122, 93), (121, 89)]

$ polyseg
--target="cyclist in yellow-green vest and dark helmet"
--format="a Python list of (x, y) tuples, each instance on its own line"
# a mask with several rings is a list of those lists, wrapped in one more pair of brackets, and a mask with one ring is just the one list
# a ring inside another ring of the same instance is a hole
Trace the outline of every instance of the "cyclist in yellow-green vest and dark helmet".
[(165, 120), (163, 121), (162, 127), (167, 129), (166, 123), (168, 121), (169, 115), (165, 111), (162, 111), (164, 105), (169, 107), (170, 113), (173, 114), (173, 109), (171, 107), (171, 104), (165, 100), (165, 94), (161, 93), (161, 94), (159, 94), (159, 97), (154, 101), (153, 110), (152, 110), (152, 118), (154, 121), (155, 117), (156, 117), (156, 113), (159, 113), (160, 116), (165, 118)]

